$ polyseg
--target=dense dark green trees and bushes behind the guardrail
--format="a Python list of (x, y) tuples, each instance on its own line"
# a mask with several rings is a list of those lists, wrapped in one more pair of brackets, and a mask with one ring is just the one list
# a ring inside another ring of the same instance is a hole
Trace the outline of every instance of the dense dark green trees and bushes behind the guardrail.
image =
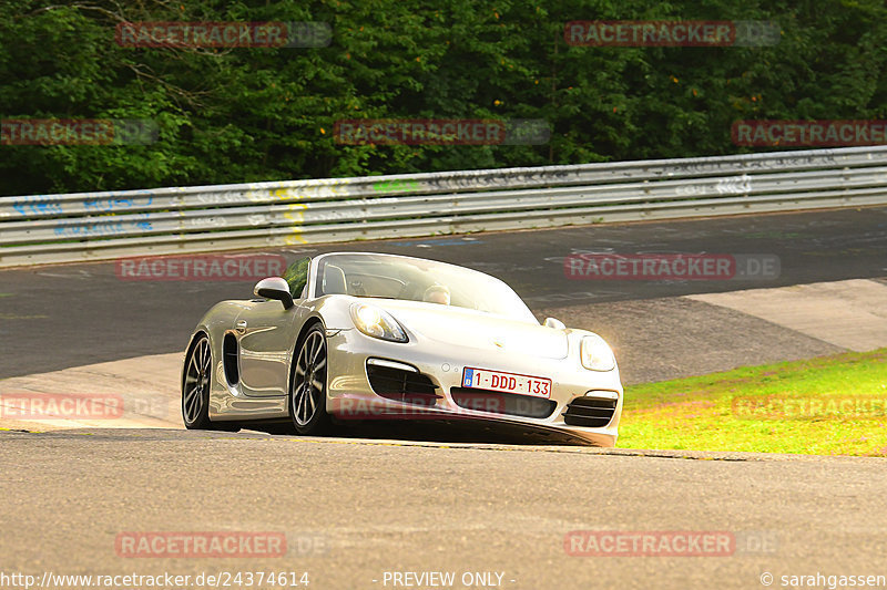
[[(736, 153), (741, 118), (887, 118), (876, 0), (0, 3), (0, 117), (146, 118), (150, 145), (0, 146), (0, 194)], [(571, 20), (773, 20), (775, 46), (570, 46)], [(319, 21), (324, 48), (126, 48), (121, 21)], [(336, 121), (543, 118), (546, 145), (341, 145)]]

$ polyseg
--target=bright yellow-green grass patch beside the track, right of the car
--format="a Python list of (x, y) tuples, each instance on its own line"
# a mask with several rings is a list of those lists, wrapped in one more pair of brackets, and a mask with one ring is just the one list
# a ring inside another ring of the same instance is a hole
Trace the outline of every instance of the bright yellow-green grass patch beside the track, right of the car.
[(623, 448), (887, 456), (887, 349), (625, 389)]

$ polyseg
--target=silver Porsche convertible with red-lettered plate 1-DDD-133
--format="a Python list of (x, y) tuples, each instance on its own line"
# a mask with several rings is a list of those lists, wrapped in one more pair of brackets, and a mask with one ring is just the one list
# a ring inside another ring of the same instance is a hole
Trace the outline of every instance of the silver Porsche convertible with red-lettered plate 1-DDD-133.
[(610, 346), (467, 268), (334, 252), (223, 301), (185, 351), (188, 428), (257, 421), (324, 433), (333, 422), (470, 421), (613, 446), (622, 384)]

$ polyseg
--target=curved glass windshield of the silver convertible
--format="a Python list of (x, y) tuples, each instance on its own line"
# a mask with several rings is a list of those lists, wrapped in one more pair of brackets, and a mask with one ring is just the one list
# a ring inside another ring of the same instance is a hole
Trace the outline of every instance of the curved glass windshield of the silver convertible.
[(330, 255), (317, 267), (317, 297), (349, 294), (455, 306), (536, 322), (504, 282), (462, 267), (391, 255)]

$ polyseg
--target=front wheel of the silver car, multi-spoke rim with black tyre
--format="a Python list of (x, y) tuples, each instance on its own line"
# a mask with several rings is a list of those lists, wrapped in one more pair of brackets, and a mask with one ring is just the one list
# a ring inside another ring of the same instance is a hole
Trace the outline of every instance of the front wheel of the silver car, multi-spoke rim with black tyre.
[(329, 428), (327, 369), (326, 335), (318, 323), (302, 341), (289, 380), (289, 415), (298, 434), (323, 434)]

